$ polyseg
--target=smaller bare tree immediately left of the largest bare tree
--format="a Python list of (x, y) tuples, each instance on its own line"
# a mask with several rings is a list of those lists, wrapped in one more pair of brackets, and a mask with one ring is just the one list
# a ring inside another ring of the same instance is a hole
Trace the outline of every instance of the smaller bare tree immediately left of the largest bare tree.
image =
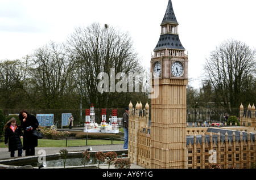
[(31, 92), (35, 93), (40, 108), (71, 107), (68, 103), (75, 89), (74, 63), (65, 45), (50, 42), (36, 49), (30, 62)]

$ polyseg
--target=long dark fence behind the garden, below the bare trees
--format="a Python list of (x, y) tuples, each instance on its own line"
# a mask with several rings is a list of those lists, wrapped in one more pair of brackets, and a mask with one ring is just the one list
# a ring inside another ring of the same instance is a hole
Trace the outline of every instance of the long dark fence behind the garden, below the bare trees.
[[(106, 122), (109, 122), (109, 117), (112, 116), (113, 108), (106, 108)], [(57, 122), (57, 128), (61, 128), (61, 116), (63, 113), (71, 113), (74, 117), (73, 127), (84, 127), (85, 123), (85, 109), (26, 109), (30, 114), (54, 114), (54, 122)], [(239, 108), (224, 109), (224, 108), (195, 108), (187, 109), (187, 121), (188, 122), (204, 122), (204, 121), (224, 121), (224, 115), (236, 115), (239, 117)], [(245, 110), (246, 111), (246, 110)], [(3, 109), (3, 114), (6, 117), (9, 114), (19, 114), (20, 109)], [(95, 122), (101, 123), (101, 109), (94, 109)], [(229, 113), (231, 112), (231, 113)], [(122, 118), (125, 109), (117, 108), (117, 117)], [(150, 113), (151, 115), (151, 113)], [(151, 116), (149, 117), (151, 120)], [(63, 126), (67, 128), (68, 126)]]

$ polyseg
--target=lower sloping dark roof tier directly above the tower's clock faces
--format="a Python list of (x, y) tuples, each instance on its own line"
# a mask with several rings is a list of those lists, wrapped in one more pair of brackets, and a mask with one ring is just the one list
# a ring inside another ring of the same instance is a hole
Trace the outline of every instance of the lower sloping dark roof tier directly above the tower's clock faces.
[(180, 49), (185, 50), (180, 42), (179, 35), (165, 34), (160, 36), (158, 44), (156, 45), (154, 51), (161, 49)]

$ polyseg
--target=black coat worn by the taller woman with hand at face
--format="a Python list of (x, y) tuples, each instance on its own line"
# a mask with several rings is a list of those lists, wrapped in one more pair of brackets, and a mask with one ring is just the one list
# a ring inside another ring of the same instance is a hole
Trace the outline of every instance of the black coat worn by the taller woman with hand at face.
[[(23, 136), (23, 149), (33, 148), (38, 146), (38, 138), (32, 135), (32, 131), (35, 131), (38, 128), (38, 119), (34, 115), (27, 114), (27, 119), (23, 122), (23, 119), (20, 119), (21, 126), (24, 130)], [(32, 126), (33, 130), (26, 131), (26, 128)]]

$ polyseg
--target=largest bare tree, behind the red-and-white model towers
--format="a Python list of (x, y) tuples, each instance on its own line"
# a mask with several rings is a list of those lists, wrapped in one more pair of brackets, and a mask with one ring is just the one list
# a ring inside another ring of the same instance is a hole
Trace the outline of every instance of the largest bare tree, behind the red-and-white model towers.
[[(93, 23), (86, 28), (78, 27), (68, 38), (72, 54), (76, 57), (76, 83), (84, 100), (96, 106), (115, 106), (121, 94), (111, 91), (98, 92), (97, 79), (100, 72), (105, 72), (111, 78), (111, 71), (135, 72), (139, 70), (137, 53), (127, 33), (115, 30), (109, 25), (101, 27)], [(111, 92), (111, 93), (110, 93)], [(127, 104), (127, 102), (126, 102)]]

